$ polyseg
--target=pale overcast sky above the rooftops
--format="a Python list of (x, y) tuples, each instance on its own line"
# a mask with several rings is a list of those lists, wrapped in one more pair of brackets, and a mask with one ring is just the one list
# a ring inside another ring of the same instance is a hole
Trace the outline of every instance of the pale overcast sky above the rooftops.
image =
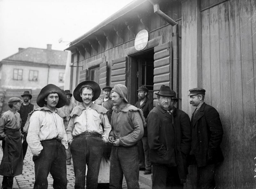
[[(18, 48), (64, 50), (133, 0), (0, 0), (0, 60)], [(59, 43), (62, 38), (64, 42)]]

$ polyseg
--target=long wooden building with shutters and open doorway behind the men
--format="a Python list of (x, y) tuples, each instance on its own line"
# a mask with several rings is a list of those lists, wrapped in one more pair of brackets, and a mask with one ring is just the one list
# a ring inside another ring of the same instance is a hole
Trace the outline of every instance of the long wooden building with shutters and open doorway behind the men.
[[(148, 43), (138, 51), (141, 30), (148, 31)], [(224, 130), (218, 188), (256, 188), (255, 0), (136, 0), (67, 50), (71, 90), (85, 79), (101, 88), (122, 83), (134, 104), (141, 85), (151, 94), (169, 85), (191, 116), (188, 90), (204, 88)]]

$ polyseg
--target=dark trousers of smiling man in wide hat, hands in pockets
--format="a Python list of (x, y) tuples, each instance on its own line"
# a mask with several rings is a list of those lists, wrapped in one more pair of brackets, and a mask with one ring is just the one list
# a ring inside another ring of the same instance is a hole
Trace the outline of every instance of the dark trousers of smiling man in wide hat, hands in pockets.
[(88, 166), (86, 176), (86, 188), (96, 189), (98, 185), (98, 175), (100, 161), (105, 143), (100, 137), (81, 135), (75, 137), (70, 145), (75, 172), (75, 188), (85, 186), (85, 170)]

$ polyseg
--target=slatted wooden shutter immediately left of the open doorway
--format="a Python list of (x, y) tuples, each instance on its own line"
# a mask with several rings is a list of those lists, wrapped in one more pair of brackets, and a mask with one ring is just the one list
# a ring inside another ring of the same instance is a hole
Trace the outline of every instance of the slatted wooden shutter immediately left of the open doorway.
[(118, 58), (113, 60), (111, 71), (111, 86), (116, 84), (126, 85), (127, 77), (127, 57)]

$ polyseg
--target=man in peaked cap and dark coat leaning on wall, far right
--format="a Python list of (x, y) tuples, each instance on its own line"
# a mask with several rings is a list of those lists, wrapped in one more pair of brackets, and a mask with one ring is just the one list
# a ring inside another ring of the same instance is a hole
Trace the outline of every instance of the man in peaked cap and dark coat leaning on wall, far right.
[[(197, 172), (194, 188), (215, 188), (214, 172), (223, 161), (220, 150), (223, 129), (220, 115), (215, 108), (205, 104), (203, 88), (189, 89), (190, 104), (196, 107), (191, 117), (192, 146), (190, 152), (191, 165)], [(191, 170), (195, 170), (191, 169)], [(195, 172), (190, 173), (195, 175)], [(193, 183), (194, 180), (192, 180)]]

